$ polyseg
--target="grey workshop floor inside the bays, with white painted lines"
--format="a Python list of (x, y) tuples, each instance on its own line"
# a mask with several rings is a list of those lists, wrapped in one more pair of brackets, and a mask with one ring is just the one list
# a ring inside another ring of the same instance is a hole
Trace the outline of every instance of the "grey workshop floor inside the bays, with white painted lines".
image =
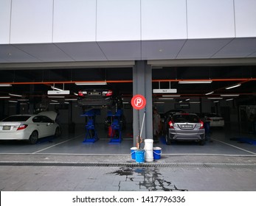
[[(107, 131), (98, 129), (99, 141), (83, 143), (86, 133), (83, 127), (77, 127), (74, 134), (63, 127), (60, 138), (44, 138), (37, 144), (30, 145), (22, 141), (1, 141), (0, 154), (130, 154), (133, 147), (131, 129), (122, 131), (121, 143), (110, 143)], [(256, 145), (232, 141), (235, 138), (255, 139), (256, 135), (232, 132), (224, 129), (211, 129), (210, 139), (204, 146), (196, 142), (178, 142), (168, 146), (165, 138), (153, 146), (162, 148), (162, 154), (216, 154), (216, 155), (256, 155)], [(143, 148), (143, 143), (142, 143)]]

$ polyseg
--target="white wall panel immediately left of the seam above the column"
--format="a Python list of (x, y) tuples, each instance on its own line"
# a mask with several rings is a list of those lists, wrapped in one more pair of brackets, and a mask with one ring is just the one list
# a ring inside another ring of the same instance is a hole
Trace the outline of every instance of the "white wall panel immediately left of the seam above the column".
[(140, 0), (97, 0), (97, 41), (140, 40)]

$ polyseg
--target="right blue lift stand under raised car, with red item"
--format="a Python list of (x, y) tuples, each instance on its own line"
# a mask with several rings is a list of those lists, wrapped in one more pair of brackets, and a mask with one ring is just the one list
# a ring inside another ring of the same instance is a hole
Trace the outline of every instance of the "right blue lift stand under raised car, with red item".
[(108, 116), (111, 117), (111, 134), (109, 143), (120, 143), (122, 141), (122, 128), (120, 124), (120, 116), (122, 115), (122, 110), (117, 110), (114, 115), (108, 111)]

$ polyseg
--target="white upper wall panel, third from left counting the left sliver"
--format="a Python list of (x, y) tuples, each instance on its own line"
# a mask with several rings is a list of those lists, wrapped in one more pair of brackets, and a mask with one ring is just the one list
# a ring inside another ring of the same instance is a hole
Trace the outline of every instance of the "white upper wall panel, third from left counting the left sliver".
[(96, 40), (96, 0), (54, 1), (54, 42)]

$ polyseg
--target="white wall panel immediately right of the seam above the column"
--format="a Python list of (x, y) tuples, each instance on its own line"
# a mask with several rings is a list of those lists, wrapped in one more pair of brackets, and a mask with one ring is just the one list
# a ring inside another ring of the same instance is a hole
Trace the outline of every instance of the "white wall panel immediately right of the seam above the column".
[(142, 40), (186, 38), (186, 0), (142, 0)]

